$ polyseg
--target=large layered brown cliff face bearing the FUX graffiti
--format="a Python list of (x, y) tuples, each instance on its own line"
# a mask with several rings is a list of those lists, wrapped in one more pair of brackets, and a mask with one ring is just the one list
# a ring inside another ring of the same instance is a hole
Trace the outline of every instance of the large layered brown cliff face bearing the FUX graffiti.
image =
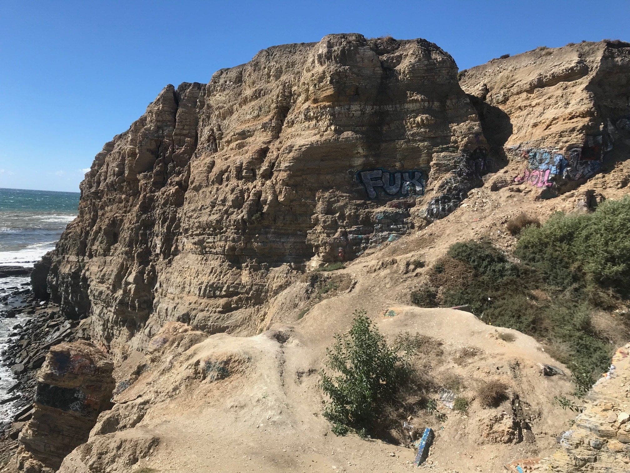
[(485, 148), (435, 44), (343, 34), (262, 50), (207, 85), (167, 86), (105, 144), (52, 254), (50, 296), (95, 315), (93, 339), (121, 351), (168, 320), (255, 332), (305, 264), (455, 209)]

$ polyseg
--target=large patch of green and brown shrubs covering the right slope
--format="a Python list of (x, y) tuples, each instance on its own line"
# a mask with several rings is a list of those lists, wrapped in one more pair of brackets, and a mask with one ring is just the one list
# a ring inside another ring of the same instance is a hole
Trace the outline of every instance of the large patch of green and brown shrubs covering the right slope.
[(420, 292), (435, 293), (442, 307), (469, 305), (487, 324), (546, 342), (585, 392), (607, 370), (612, 353), (593, 317), (606, 317), (602, 309), (616, 307), (630, 291), (630, 198), (604, 202), (593, 213), (559, 213), (542, 226), (520, 218), (515, 227), (522, 263), (490, 243), (455, 243), (412, 302), (423, 306), (427, 297)]

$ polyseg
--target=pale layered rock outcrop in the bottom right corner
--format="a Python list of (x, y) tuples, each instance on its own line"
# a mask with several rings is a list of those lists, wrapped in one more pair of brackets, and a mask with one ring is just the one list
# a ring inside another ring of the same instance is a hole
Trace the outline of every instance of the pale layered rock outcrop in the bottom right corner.
[(610, 371), (592, 388), (585, 409), (560, 436), (549, 462), (563, 473), (630, 470), (630, 344), (612, 357)]

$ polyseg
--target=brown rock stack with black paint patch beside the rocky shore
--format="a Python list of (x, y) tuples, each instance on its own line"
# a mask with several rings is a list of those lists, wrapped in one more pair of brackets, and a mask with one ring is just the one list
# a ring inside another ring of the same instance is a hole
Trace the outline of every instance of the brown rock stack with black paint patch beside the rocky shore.
[(98, 414), (110, 407), (113, 363), (86, 341), (50, 349), (38, 373), (33, 417), (20, 433), (18, 468), (56, 471), (63, 458), (88, 440)]

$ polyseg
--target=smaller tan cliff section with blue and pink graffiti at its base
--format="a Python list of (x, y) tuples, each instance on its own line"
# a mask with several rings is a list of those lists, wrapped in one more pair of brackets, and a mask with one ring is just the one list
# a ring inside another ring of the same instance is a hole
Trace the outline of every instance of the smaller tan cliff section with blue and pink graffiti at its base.
[(517, 184), (571, 189), (630, 143), (630, 44), (538, 48), (461, 73), (488, 142), (522, 165)]

